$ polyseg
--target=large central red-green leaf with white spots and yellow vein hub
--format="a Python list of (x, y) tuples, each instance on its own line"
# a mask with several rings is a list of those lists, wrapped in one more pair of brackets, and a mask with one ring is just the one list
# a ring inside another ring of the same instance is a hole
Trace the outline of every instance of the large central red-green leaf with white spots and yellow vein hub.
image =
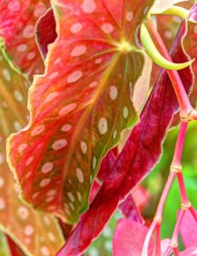
[(130, 97), (144, 66), (137, 33), (153, 0), (52, 3), (58, 38), (31, 87), (31, 122), (10, 137), (9, 159), (25, 200), (73, 223), (104, 154), (138, 119)]

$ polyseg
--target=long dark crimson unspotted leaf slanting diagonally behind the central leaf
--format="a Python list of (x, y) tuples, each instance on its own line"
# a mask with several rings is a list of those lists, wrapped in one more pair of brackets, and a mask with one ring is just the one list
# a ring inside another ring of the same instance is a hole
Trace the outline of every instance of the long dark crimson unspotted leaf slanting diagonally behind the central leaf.
[[(188, 60), (182, 44), (186, 30), (187, 25), (183, 21), (173, 44), (174, 61)], [(178, 73), (183, 80), (185, 90), (189, 93), (189, 88), (193, 84), (191, 70), (185, 68)], [(119, 154), (109, 177), (104, 181), (89, 210), (83, 215), (65, 246), (59, 251), (59, 256), (66, 255), (65, 253), (68, 255), (82, 253), (104, 229), (120, 201), (124, 200), (131, 189), (160, 159), (162, 143), (177, 111), (178, 102), (172, 83), (163, 70), (144, 106), (140, 122), (132, 129), (127, 144)]]

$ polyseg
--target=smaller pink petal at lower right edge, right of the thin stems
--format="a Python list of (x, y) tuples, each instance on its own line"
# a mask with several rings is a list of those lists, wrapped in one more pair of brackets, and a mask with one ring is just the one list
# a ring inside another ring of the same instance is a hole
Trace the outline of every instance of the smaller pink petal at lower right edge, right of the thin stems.
[(197, 224), (189, 211), (183, 216), (180, 233), (185, 247), (197, 247)]

